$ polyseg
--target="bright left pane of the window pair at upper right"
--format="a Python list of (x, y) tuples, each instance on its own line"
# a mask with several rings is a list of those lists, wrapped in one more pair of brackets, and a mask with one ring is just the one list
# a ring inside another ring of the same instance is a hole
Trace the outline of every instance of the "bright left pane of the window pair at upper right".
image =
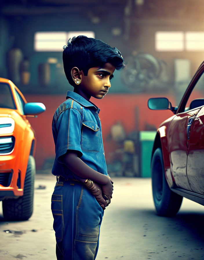
[(183, 51), (183, 32), (156, 32), (155, 48), (157, 51)]

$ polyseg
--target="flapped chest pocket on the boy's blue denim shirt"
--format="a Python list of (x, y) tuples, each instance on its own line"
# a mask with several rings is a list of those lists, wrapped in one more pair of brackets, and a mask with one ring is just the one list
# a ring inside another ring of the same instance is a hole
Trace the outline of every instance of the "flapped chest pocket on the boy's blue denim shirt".
[(99, 152), (101, 147), (100, 129), (93, 121), (82, 123), (81, 149), (90, 152)]

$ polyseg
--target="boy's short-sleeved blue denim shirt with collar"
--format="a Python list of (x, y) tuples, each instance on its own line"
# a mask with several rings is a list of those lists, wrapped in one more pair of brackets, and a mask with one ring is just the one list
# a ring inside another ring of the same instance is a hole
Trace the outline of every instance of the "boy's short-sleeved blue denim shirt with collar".
[(99, 111), (92, 102), (67, 91), (66, 101), (57, 108), (52, 120), (56, 154), (52, 174), (65, 179), (76, 177), (61, 160), (68, 149), (77, 151), (80, 159), (92, 169), (108, 174)]

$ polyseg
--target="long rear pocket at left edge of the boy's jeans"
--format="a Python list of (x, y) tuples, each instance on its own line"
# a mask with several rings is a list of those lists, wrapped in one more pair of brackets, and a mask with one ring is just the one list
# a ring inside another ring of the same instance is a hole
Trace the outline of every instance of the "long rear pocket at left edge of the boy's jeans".
[(62, 195), (52, 194), (51, 210), (54, 218), (53, 229), (55, 231), (56, 240), (62, 240), (64, 233)]

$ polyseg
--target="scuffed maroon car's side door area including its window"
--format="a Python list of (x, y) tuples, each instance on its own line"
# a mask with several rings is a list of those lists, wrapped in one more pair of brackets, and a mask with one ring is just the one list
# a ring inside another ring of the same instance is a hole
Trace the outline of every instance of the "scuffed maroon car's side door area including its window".
[(167, 133), (170, 165), (175, 183), (178, 187), (195, 192), (201, 192), (204, 184), (204, 108), (201, 109), (204, 99), (195, 102), (195, 99), (204, 98), (203, 71), (204, 63), (198, 68), (183, 95)]

